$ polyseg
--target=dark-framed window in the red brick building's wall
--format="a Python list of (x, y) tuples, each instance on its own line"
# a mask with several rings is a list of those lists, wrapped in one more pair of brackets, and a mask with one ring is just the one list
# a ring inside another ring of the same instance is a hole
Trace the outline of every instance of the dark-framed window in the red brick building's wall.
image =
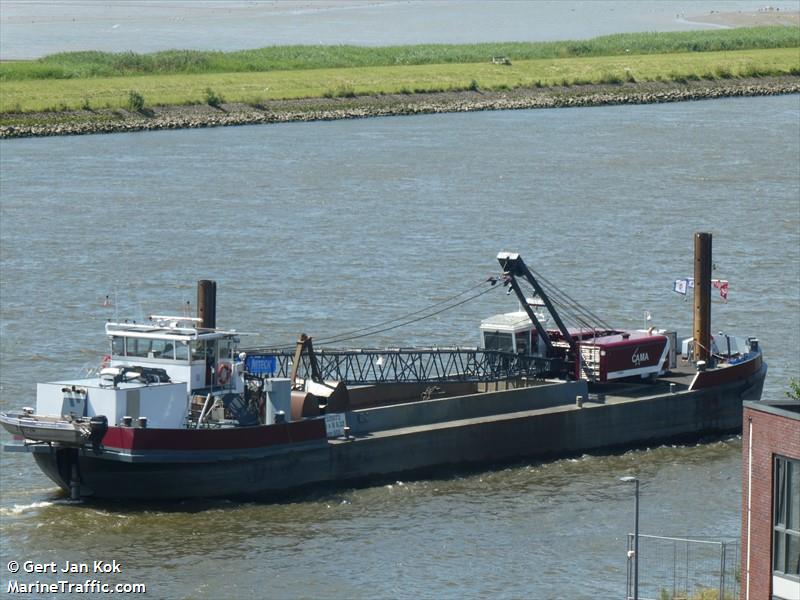
[(775, 457), (772, 568), (800, 579), (800, 460)]

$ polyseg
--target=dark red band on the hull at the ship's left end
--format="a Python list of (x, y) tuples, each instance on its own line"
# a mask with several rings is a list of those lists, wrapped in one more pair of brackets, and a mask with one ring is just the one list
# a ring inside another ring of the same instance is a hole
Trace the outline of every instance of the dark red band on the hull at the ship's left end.
[(122, 450), (226, 450), (263, 448), (326, 438), (325, 421), (230, 429), (138, 429), (109, 427), (103, 445)]

